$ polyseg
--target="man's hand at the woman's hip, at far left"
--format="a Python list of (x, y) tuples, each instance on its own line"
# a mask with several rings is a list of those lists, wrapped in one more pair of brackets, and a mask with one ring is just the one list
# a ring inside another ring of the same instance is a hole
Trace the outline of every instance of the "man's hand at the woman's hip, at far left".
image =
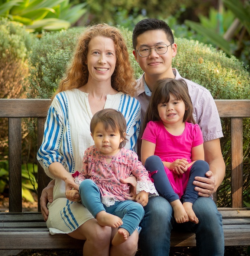
[(45, 187), (41, 193), (40, 197), (40, 205), (41, 205), (41, 212), (45, 221), (47, 221), (49, 216), (49, 211), (47, 208), (47, 203), (53, 202), (53, 189), (55, 186), (55, 180), (52, 180), (47, 187)]

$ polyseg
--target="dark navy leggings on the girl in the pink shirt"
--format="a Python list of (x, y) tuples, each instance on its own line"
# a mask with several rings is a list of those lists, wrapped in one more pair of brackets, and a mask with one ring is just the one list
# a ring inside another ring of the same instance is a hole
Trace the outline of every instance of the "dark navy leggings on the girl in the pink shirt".
[[(157, 173), (152, 174), (152, 178), (154, 179), (155, 188), (159, 195), (167, 199), (169, 203), (179, 199), (179, 196), (174, 192), (169, 182), (164, 165), (158, 156), (152, 155), (151, 157), (147, 158), (145, 161), (145, 168), (150, 173), (157, 170)], [(205, 161), (198, 160), (192, 164), (186, 190), (182, 198), (183, 202), (195, 202), (195, 200), (198, 198), (198, 192), (194, 190), (194, 178), (196, 176), (206, 177), (205, 173), (207, 173), (207, 171), (209, 171), (209, 165)]]

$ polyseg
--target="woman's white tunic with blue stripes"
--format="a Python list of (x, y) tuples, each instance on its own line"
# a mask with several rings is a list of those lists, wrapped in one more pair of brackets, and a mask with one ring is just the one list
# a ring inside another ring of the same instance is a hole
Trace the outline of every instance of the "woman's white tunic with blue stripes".
[[(124, 115), (129, 139), (125, 148), (136, 151), (140, 126), (139, 101), (118, 92), (107, 95), (104, 108), (114, 108)], [(48, 169), (52, 162), (61, 162), (70, 173), (81, 170), (84, 151), (94, 144), (90, 136), (91, 118), (87, 93), (71, 89), (60, 92), (53, 99), (45, 123), (43, 142), (37, 155), (49, 177), (55, 178)], [(46, 223), (51, 234), (70, 233), (93, 218), (81, 203), (66, 199), (65, 182), (58, 178), (53, 190), (53, 202), (48, 203), (48, 209)]]

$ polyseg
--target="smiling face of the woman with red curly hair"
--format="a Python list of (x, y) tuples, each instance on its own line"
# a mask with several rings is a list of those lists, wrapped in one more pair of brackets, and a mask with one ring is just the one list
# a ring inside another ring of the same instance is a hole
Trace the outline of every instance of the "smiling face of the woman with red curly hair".
[(109, 82), (116, 67), (114, 41), (107, 37), (95, 37), (88, 44), (88, 82)]

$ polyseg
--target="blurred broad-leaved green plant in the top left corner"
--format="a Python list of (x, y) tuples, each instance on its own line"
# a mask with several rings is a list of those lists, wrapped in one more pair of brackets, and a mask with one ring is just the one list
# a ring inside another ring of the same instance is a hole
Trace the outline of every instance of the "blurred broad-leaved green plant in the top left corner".
[(0, 16), (26, 25), (30, 32), (67, 29), (86, 13), (86, 3), (72, 5), (69, 0), (0, 1)]

